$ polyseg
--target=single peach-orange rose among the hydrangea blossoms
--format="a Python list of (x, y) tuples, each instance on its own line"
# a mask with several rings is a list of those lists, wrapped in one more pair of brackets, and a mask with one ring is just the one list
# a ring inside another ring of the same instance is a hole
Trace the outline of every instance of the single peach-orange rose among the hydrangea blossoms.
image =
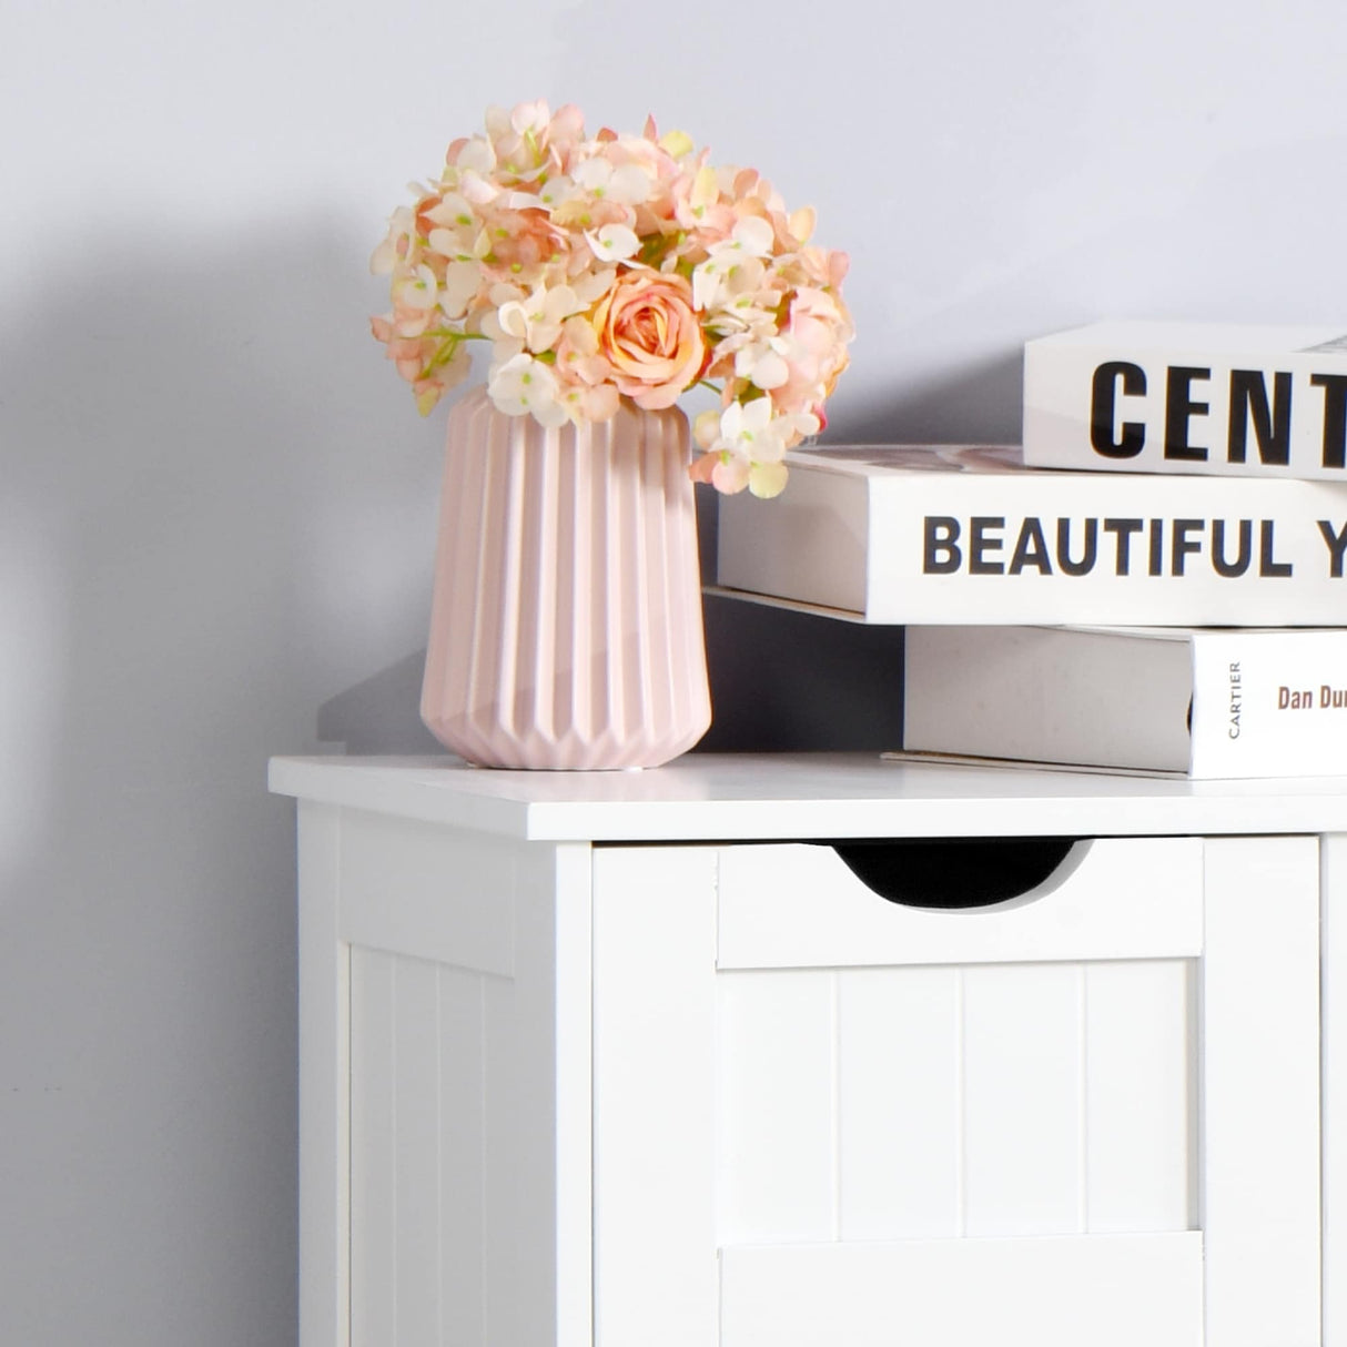
[(692, 287), (682, 276), (625, 272), (599, 300), (594, 327), (613, 383), (647, 411), (672, 407), (706, 362)]

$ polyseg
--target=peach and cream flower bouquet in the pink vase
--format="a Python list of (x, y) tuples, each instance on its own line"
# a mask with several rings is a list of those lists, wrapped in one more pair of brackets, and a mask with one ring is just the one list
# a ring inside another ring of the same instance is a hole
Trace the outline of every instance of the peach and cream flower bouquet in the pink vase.
[(492, 109), (439, 179), (396, 210), (373, 268), (392, 311), (374, 335), (428, 412), (490, 345), (488, 393), (513, 416), (577, 426), (624, 399), (719, 408), (692, 427), (695, 480), (775, 496), (847, 365), (845, 253), (815, 247), (752, 168), (715, 167), (682, 132), (585, 133), (574, 106)]

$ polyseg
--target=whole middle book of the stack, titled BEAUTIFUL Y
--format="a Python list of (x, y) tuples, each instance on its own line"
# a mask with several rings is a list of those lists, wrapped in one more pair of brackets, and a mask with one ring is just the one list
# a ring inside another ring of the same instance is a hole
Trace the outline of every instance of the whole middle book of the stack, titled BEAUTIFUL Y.
[(1336, 626), (1347, 484), (1026, 469), (1010, 447), (792, 451), (719, 500), (717, 583), (878, 624)]

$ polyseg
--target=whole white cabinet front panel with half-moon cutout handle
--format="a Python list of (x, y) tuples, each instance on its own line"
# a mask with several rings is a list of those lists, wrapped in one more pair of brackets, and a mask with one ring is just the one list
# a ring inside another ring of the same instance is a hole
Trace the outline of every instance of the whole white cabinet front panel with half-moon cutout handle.
[(1317, 1342), (1312, 839), (981, 911), (814, 846), (594, 880), (599, 1347)]

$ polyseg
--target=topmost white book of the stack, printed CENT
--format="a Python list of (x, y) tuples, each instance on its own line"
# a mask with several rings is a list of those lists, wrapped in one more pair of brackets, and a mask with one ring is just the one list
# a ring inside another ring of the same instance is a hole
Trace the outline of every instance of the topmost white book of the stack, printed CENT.
[(1039, 467), (1347, 481), (1347, 323), (1102, 322), (1024, 348)]

